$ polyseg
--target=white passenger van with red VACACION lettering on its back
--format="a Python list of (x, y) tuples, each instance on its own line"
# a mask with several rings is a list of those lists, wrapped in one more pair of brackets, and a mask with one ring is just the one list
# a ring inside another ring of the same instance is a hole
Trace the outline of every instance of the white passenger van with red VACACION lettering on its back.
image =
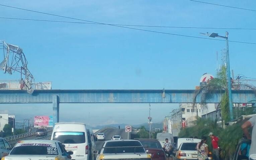
[(72, 151), (72, 159), (94, 159), (94, 137), (84, 123), (55, 123), (51, 140), (60, 141), (67, 151)]

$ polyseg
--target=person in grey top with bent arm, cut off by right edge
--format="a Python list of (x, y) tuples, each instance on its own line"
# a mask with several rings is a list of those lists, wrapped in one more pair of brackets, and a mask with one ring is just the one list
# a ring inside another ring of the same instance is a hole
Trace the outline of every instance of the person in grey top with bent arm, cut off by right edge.
[[(256, 154), (256, 116), (253, 116), (248, 121), (246, 121), (241, 127), (244, 131), (244, 134), (246, 135), (247, 139), (251, 139), (251, 148), (249, 151), (249, 155)], [(248, 131), (249, 128), (252, 128), (252, 137)]]

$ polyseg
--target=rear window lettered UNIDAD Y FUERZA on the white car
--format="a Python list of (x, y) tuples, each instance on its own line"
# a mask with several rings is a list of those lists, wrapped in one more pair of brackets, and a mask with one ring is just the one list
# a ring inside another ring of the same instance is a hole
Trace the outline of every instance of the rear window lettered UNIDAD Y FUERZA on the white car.
[(20, 143), (10, 155), (59, 155), (55, 144), (48, 143)]

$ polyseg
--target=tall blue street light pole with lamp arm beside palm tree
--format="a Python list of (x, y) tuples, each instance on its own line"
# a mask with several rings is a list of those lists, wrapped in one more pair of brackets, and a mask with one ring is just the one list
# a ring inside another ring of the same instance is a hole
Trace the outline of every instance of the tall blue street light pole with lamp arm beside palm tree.
[(229, 33), (226, 31), (226, 36), (220, 36), (218, 33), (206, 33), (209, 37), (220, 37), (226, 39), (226, 46), (227, 46), (227, 55), (226, 55), (226, 62), (227, 62), (227, 68), (226, 68), (226, 74), (228, 79), (228, 95), (229, 95), (229, 112), (230, 112), (230, 119), (233, 120), (233, 103), (232, 103), (232, 89), (231, 89), (231, 76), (230, 76), (230, 64), (229, 64), (229, 40), (228, 35)]

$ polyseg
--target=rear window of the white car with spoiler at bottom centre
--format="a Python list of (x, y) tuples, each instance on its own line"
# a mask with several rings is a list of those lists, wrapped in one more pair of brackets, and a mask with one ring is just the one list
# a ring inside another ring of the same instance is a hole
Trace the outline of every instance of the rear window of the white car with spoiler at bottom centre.
[[(134, 147), (142, 146), (138, 141), (118, 141), (118, 142), (107, 142), (103, 153), (145, 153), (143, 147)], [(107, 148), (111, 147), (111, 148)]]

